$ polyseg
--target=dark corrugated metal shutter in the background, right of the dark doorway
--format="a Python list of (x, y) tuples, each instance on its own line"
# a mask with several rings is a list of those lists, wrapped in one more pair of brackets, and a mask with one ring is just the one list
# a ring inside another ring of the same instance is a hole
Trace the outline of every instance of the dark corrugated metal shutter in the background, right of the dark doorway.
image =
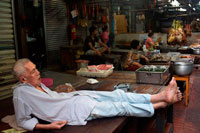
[(45, 38), (48, 64), (60, 59), (60, 46), (67, 45), (67, 8), (63, 0), (44, 0)]

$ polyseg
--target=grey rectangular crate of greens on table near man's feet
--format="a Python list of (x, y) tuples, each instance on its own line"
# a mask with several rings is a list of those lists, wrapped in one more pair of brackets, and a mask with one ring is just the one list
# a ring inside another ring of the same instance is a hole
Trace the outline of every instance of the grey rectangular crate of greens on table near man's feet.
[(136, 82), (162, 85), (166, 82), (169, 75), (169, 66), (145, 65), (136, 70)]

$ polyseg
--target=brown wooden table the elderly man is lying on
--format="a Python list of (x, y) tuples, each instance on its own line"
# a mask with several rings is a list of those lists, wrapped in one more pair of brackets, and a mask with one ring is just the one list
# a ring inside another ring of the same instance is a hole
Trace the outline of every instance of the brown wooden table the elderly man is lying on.
[[(47, 72), (48, 73), (48, 72)], [(77, 77), (73, 75), (66, 75), (66, 74), (60, 74), (55, 72), (50, 72), (50, 74), (43, 74), (51, 77), (54, 79), (55, 83), (58, 83), (57, 80), (61, 80), (64, 77), (64, 80), (62, 82), (70, 82), (72, 84), (78, 84), (75, 88), (77, 90), (97, 90), (97, 91), (112, 91), (114, 89), (114, 85), (120, 83), (120, 82), (126, 82), (129, 83), (131, 86), (132, 92), (136, 93), (158, 93), (162, 90), (163, 86), (160, 85), (138, 85), (136, 84), (136, 76), (134, 72), (114, 72), (107, 78), (98, 78), (99, 83), (98, 84), (83, 84), (83, 81), (85, 82), (86, 78), (84, 77)], [(52, 75), (53, 74), (53, 75)], [(58, 74), (58, 76), (56, 76)], [(51, 76), (50, 76), (51, 75)], [(63, 75), (63, 76), (62, 76)], [(44, 76), (45, 77), (45, 76)], [(54, 78), (55, 77), (55, 78)], [(59, 78), (57, 78), (59, 77)], [(68, 78), (66, 78), (68, 77)], [(70, 81), (66, 81), (69, 79)], [(75, 83), (77, 82), (77, 83)], [(156, 88), (156, 91), (155, 89)], [(159, 113), (157, 113), (159, 112)], [(102, 118), (102, 119), (96, 119), (92, 121), (88, 121), (87, 125), (85, 126), (65, 126), (62, 128), (62, 130), (53, 130), (51, 132), (65, 132), (65, 133), (116, 133), (116, 132), (138, 132), (138, 127), (141, 126), (141, 124), (137, 124), (138, 121), (141, 121), (140, 123), (144, 123), (146, 120), (149, 119), (156, 119), (156, 131), (157, 132), (163, 132), (164, 131), (164, 124), (165, 120), (163, 119), (163, 116), (166, 116), (166, 109), (162, 110), (156, 110), (155, 115), (152, 118), (136, 118), (136, 117), (113, 117), (113, 118)], [(145, 119), (145, 120), (143, 120)], [(144, 128), (144, 127), (142, 127)]]

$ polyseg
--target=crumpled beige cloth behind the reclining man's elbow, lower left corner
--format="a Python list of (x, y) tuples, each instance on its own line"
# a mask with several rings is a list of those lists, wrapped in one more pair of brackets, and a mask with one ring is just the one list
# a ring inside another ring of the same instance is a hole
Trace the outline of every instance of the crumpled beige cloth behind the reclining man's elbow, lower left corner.
[(21, 128), (21, 127), (19, 127), (17, 125), (17, 121), (16, 121), (15, 115), (7, 115), (4, 118), (2, 118), (1, 121), (4, 122), (4, 123), (8, 123), (9, 126), (11, 126), (12, 128), (16, 129), (17, 131), (26, 131), (25, 129), (23, 129), (23, 128)]

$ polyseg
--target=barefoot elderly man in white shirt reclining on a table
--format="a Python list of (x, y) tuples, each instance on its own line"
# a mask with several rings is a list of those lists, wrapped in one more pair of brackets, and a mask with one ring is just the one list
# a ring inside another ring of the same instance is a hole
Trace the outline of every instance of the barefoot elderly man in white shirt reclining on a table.
[[(29, 59), (19, 59), (13, 72), (19, 80), (13, 91), (16, 120), (27, 130), (85, 125), (89, 120), (102, 117), (151, 117), (155, 109), (182, 98), (174, 78), (164, 91), (155, 95), (125, 93), (122, 90), (57, 93), (41, 83), (40, 72)], [(41, 124), (36, 117), (50, 124)]]

